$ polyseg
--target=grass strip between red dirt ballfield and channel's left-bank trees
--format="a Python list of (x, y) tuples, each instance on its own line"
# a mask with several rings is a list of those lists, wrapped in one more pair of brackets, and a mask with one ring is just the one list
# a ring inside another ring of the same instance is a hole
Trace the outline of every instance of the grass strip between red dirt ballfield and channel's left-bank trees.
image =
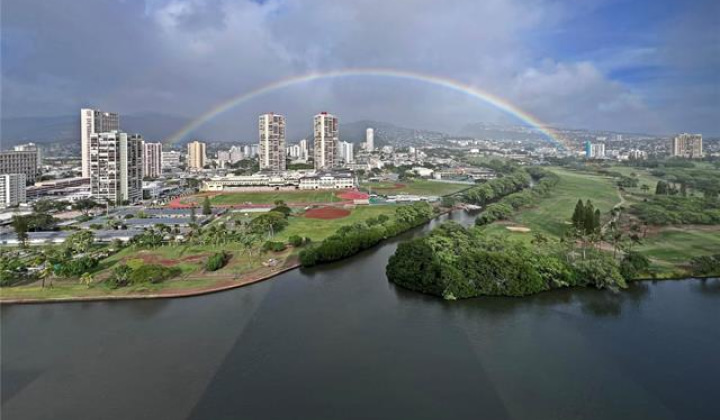
[(352, 210), (349, 216), (331, 220), (291, 217), (288, 227), (275, 235), (274, 240), (287, 241), (292, 235), (300, 235), (309, 237), (313, 242), (322, 241), (341, 226), (361, 223), (381, 214), (392, 218), (395, 215), (395, 208), (395, 206), (359, 206)]

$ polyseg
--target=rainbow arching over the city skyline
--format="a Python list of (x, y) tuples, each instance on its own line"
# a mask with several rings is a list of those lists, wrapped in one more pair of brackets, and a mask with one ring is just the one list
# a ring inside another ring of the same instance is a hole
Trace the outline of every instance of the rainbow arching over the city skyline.
[(292, 76), (288, 77), (286, 79), (278, 80), (272, 83), (269, 83), (265, 86), (261, 86), (257, 89), (251, 90), (249, 92), (241, 93), (238, 96), (235, 96), (219, 105), (216, 105), (209, 111), (205, 112), (204, 114), (200, 115), (198, 118), (192, 120), (190, 123), (185, 125), (182, 129), (180, 129), (178, 132), (173, 134), (171, 137), (169, 137), (164, 143), (166, 144), (175, 144), (184, 137), (188, 136), (190, 133), (195, 131), (197, 128), (202, 126), (203, 124), (207, 123), (208, 121), (212, 120), (213, 118), (217, 117), (218, 115), (244, 103), (247, 102), (253, 98), (256, 98), (258, 96), (276, 91), (278, 89), (283, 89), (292, 85), (297, 85), (300, 83), (308, 83), (313, 82), (316, 80), (322, 80), (322, 79), (334, 79), (334, 78), (341, 78), (341, 77), (392, 77), (392, 78), (398, 78), (398, 79), (406, 79), (406, 80), (413, 80), (418, 82), (424, 82), (429, 83), (435, 86), (441, 86), (450, 90), (454, 90), (457, 92), (461, 92), (463, 94), (478, 98), (482, 100), (485, 103), (488, 103), (495, 108), (506, 112), (509, 115), (514, 116), (515, 118), (519, 119), (520, 121), (532, 126), (533, 128), (539, 130), (542, 132), (556, 147), (560, 149), (564, 149), (565, 145), (560, 140), (560, 138), (557, 136), (557, 134), (546, 124), (544, 124), (542, 121), (540, 121), (537, 117), (534, 115), (518, 108), (517, 106), (511, 104), (507, 100), (500, 98), (499, 96), (493, 95), (489, 92), (486, 92), (484, 90), (481, 90), (477, 87), (459, 82), (457, 80), (449, 79), (446, 77), (439, 77), (429, 74), (423, 74), (423, 73), (416, 73), (416, 72), (410, 72), (405, 70), (395, 70), (395, 69), (382, 69), (382, 68), (356, 68), (356, 69), (344, 69), (344, 70), (334, 70), (334, 71), (326, 71), (326, 72), (313, 72), (308, 74), (303, 74), (299, 76)]

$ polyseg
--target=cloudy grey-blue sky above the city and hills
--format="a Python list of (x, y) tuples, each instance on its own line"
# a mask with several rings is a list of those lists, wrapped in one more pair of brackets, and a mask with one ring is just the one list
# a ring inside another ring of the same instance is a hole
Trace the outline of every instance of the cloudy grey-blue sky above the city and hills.
[[(554, 125), (720, 134), (719, 22), (717, 0), (3, 0), (2, 113), (192, 118), (289, 76), (383, 67)], [(322, 110), (451, 132), (516, 122), (437, 86), (352, 77), (272, 92), (196, 134), (254, 138), (265, 111), (309, 132)]]

